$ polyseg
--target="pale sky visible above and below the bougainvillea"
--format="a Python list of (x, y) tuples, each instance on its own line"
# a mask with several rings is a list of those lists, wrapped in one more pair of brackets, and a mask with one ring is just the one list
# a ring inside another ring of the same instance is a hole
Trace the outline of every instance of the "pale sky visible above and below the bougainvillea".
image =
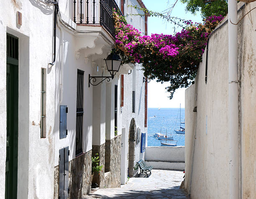
[[(146, 8), (148, 10), (162, 12), (166, 10), (168, 6), (173, 4), (175, 0), (143, 0)], [(172, 16), (183, 18), (186, 20), (192, 20), (193, 22), (202, 22), (202, 18), (200, 13), (197, 15), (192, 15), (191, 13), (186, 13), (185, 4), (177, 2), (175, 5)], [(165, 22), (162, 18), (158, 17), (149, 17), (148, 18), (148, 35), (152, 33), (164, 33), (164, 34), (174, 34), (173, 24), (169, 22)], [(179, 30), (175, 30), (180, 31)], [(160, 82), (156, 82), (155, 80), (151, 80), (148, 83), (148, 107), (149, 108), (178, 108), (181, 103), (181, 107), (185, 107), (185, 89), (178, 89), (174, 93), (173, 99), (169, 99), (169, 93), (166, 92), (165, 87), (169, 84)]]

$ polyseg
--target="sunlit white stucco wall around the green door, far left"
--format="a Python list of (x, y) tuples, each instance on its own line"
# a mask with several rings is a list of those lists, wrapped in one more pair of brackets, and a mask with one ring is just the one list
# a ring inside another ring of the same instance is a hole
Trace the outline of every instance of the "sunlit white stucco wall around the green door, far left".
[[(47, 68), (51, 61), (52, 9), (38, 5), (33, 1), (18, 0), (16, 3), (14, 1), (3, 1), (1, 4), (0, 57), (2, 61), (0, 76), (2, 79), (0, 85), (3, 91), (1, 92), (0, 117), (3, 124), (0, 125), (0, 128), (3, 129), (1, 129), (0, 136), (0, 148), (2, 149), (0, 155), (0, 166), (2, 168), (0, 171), (0, 181), (2, 182), (0, 198), (4, 198), (5, 195), (6, 33), (19, 38), (18, 198), (51, 198), (54, 181), (54, 150), (51, 130), (53, 122), (49, 122), (47, 126), (47, 138), (41, 139), (38, 125), (41, 118), (41, 82), (38, 79), (41, 79), (41, 67)], [(22, 26), (16, 24), (17, 11), (23, 14)], [(39, 21), (40, 26), (38, 26)], [(54, 84), (55, 81), (53, 80), (52, 83)], [(54, 100), (51, 100), (51, 102), (54, 102)], [(49, 117), (54, 114), (51, 111), (48, 113)], [(43, 187), (44, 189), (42, 189)], [(48, 191), (45, 192), (45, 190)]]

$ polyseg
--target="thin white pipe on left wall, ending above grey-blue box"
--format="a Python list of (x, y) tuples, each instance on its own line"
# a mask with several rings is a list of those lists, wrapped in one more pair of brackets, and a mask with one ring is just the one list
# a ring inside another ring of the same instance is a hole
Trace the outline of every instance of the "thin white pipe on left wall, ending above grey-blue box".
[(60, 99), (59, 102), (62, 102), (63, 99), (63, 63), (64, 63), (64, 47), (63, 47), (63, 38), (64, 38), (64, 32), (63, 32), (63, 27), (60, 25), (60, 20), (58, 18), (58, 23), (57, 26), (60, 29), (61, 32), (61, 38), (60, 38), (60, 45), (61, 45), (61, 52), (60, 52), (60, 84), (59, 84), (59, 89), (60, 89)]

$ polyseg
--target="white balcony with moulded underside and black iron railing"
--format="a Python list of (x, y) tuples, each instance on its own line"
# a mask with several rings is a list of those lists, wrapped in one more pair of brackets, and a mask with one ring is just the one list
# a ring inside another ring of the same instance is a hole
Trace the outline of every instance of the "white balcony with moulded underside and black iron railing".
[[(73, 4), (74, 3), (74, 4)], [(115, 0), (72, 0), (72, 19), (61, 13), (62, 20), (74, 27), (76, 59), (84, 59), (85, 64), (101, 66), (106, 69), (102, 60), (110, 54), (115, 46), (115, 27), (113, 9), (123, 15)], [(118, 75), (128, 74), (132, 69), (129, 64), (123, 65)], [(95, 74), (98, 75), (98, 74)]]

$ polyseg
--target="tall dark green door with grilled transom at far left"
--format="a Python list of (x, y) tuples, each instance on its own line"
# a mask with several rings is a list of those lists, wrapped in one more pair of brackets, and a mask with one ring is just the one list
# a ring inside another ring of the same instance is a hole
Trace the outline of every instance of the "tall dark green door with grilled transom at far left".
[[(18, 38), (14, 38), (17, 39)], [(5, 199), (17, 198), (18, 171), (18, 59), (14, 59), (10, 51), (18, 51), (18, 45), (13, 45), (13, 37), (7, 39), (6, 65), (6, 100), (7, 100), (7, 139), (5, 166)], [(16, 42), (18, 43), (18, 42)], [(15, 47), (15, 49), (10, 49)], [(15, 53), (14, 53), (15, 55)], [(18, 54), (16, 54), (18, 58)], [(15, 57), (16, 58), (16, 57)]]

